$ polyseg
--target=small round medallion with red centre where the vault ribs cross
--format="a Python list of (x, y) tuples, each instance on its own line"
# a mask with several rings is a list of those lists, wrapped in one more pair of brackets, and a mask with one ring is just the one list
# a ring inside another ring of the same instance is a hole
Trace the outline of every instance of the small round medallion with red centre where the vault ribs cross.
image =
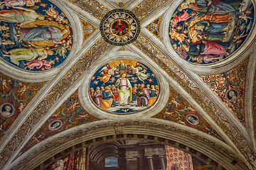
[(131, 11), (114, 9), (102, 18), (100, 32), (112, 45), (127, 45), (139, 35), (139, 20)]

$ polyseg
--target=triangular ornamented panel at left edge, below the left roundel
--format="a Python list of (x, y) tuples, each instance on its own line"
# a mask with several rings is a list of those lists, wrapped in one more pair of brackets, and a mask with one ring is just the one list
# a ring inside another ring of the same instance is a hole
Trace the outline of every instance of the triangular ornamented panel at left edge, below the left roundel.
[(46, 82), (25, 83), (0, 74), (0, 139)]

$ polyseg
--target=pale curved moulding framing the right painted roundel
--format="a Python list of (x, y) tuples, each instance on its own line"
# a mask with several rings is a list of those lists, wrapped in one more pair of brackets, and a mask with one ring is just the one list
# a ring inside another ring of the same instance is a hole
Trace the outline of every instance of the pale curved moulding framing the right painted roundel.
[[(218, 74), (221, 72), (226, 72), (229, 69), (233, 69), (242, 61), (244, 61), (246, 57), (248, 57), (248, 55), (250, 55), (253, 48), (255, 47), (256, 42), (256, 22), (253, 23), (252, 29), (250, 30), (250, 34), (247, 36), (247, 39), (245, 40), (245, 42), (243, 42), (242, 46), (239, 47), (238, 50), (236, 50), (232, 55), (221, 60), (220, 62), (215, 62), (212, 64), (192, 64), (179, 57), (176, 51), (173, 49), (173, 47), (171, 47), (171, 42), (169, 40), (169, 23), (176, 8), (178, 7), (179, 4), (181, 4), (182, 1), (183, 0), (174, 1), (174, 3), (171, 4), (171, 6), (169, 6), (169, 8), (166, 10), (166, 12), (161, 18), (161, 24), (159, 28), (160, 39), (163, 42), (164, 46), (166, 47), (166, 50), (170, 52), (172, 60), (175, 60), (176, 64), (178, 64), (181, 67), (186, 67), (195, 72), (196, 74)], [(255, 6), (256, 1), (251, 1)]]

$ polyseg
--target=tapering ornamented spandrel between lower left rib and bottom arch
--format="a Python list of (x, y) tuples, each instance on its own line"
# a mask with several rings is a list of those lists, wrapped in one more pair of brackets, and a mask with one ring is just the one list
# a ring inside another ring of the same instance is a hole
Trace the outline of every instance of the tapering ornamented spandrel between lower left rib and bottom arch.
[[(51, 137), (59, 132), (74, 128), (75, 126), (82, 125), (100, 120), (90, 115), (80, 106), (78, 98), (78, 90), (76, 90), (61, 106), (58, 108), (53, 115), (46, 120), (41, 128), (36, 132), (35, 135), (28, 141), (28, 143), (21, 149), (21, 152), (17, 157), (21, 156), (28, 149), (38, 144), (48, 137)], [(16, 158), (17, 158), (16, 157)]]

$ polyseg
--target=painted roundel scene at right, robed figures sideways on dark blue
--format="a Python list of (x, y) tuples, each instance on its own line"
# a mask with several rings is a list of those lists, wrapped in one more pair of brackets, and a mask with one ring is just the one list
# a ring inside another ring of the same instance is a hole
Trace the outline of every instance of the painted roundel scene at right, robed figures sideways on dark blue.
[(184, 0), (171, 18), (171, 45), (188, 62), (218, 62), (242, 45), (254, 15), (250, 0)]

